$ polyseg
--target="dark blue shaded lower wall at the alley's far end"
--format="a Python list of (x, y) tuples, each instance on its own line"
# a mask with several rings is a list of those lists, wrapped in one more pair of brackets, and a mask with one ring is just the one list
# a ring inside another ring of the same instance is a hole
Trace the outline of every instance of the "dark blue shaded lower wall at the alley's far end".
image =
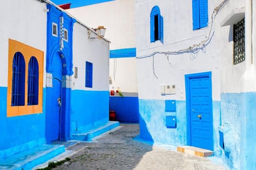
[(117, 120), (121, 122), (139, 122), (138, 97), (111, 97), (109, 98), (110, 111), (115, 111)]

